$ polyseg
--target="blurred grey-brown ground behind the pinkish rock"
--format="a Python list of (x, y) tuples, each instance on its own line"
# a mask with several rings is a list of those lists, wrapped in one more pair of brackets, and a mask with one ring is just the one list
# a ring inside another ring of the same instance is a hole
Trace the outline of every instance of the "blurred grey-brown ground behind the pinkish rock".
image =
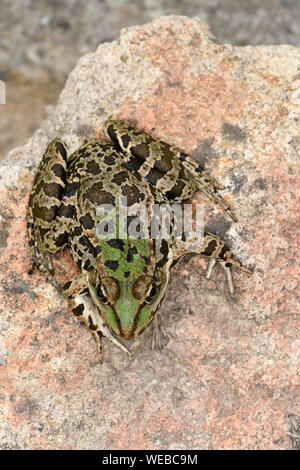
[(219, 43), (300, 45), (298, 0), (1, 0), (0, 160), (39, 127), (82, 54), (170, 14), (201, 18)]

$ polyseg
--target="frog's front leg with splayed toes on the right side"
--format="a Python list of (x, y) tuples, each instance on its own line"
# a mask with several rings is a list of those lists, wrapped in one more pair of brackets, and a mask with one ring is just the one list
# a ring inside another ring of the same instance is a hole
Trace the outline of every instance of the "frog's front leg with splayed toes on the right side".
[(222, 266), (226, 272), (231, 294), (234, 293), (234, 284), (231, 273), (232, 267), (237, 268), (247, 274), (253, 274), (250, 269), (242, 266), (240, 261), (233, 255), (233, 253), (220, 238), (211, 233), (205, 233), (204, 244), (200, 254), (209, 256), (211, 258), (207, 268), (207, 279), (210, 278), (212, 269), (216, 263), (219, 263)]

